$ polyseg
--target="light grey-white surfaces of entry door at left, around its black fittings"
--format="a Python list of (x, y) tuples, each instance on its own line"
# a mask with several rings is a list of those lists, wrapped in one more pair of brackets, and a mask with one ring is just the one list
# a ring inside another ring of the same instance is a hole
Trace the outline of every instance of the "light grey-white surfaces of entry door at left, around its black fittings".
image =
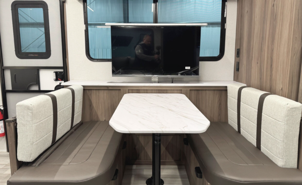
[[(44, 0), (48, 5), (51, 56), (48, 59), (19, 59), (15, 55), (11, 4), (14, 0), (0, 0), (0, 32), (4, 66), (63, 66), (60, 4), (58, 0)], [(41, 90), (53, 90), (59, 83), (53, 81), (53, 71), (40, 70)], [(6, 89), (12, 89), (10, 70), (4, 70)], [(37, 86), (30, 88), (38, 89)], [(8, 116), (16, 115), (16, 103), (41, 93), (6, 93)], [(1, 96), (0, 96), (1, 98)], [(2, 105), (2, 98), (1, 104)]]

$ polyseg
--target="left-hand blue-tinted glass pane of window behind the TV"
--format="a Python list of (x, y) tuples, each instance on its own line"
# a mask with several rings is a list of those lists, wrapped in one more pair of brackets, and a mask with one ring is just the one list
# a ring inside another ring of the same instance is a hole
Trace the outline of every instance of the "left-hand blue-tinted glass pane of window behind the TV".
[[(153, 0), (87, 0), (89, 53), (111, 59), (111, 30), (106, 23), (153, 23)], [(127, 12), (126, 10), (129, 10)]]

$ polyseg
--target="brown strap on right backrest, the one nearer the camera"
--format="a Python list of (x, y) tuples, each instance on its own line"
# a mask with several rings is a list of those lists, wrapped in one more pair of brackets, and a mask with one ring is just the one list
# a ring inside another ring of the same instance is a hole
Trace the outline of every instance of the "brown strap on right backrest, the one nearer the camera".
[(264, 93), (260, 96), (258, 102), (258, 111), (257, 111), (257, 135), (256, 135), (256, 146), (259, 150), (261, 150), (261, 124), (262, 124), (262, 111), (263, 111), (263, 103), (264, 99), (271, 95), (272, 93)]

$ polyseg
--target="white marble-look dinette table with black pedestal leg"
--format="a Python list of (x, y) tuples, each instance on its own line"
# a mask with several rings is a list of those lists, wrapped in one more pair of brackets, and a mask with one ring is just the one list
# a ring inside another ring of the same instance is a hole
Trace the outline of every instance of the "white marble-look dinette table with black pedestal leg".
[(210, 121), (184, 94), (125, 94), (109, 121), (120, 133), (152, 133), (152, 177), (147, 185), (163, 185), (161, 134), (202, 133)]

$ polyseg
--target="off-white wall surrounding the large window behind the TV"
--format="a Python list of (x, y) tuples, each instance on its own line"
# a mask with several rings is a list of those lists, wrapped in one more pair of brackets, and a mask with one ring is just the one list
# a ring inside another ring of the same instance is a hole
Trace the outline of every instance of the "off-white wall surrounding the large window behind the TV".
[[(93, 62), (86, 57), (82, 0), (66, 0), (66, 17), (70, 80), (129, 79), (112, 77), (111, 62)], [(224, 56), (220, 61), (200, 62), (199, 80), (233, 80), (236, 19), (237, 0), (228, 0)]]

